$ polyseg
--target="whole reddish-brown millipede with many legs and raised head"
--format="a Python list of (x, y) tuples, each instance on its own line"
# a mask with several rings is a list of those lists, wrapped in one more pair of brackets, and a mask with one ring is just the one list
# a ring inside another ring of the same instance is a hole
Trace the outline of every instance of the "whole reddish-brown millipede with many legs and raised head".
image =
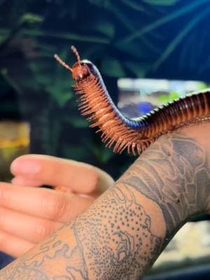
[(99, 127), (97, 132), (102, 132), (102, 141), (108, 147), (114, 145), (115, 153), (127, 149), (128, 153), (140, 155), (162, 134), (210, 121), (210, 90), (176, 99), (139, 118), (126, 118), (113, 104), (97, 67), (88, 60), (80, 60), (73, 46), (71, 50), (78, 59), (72, 67), (57, 55), (55, 58), (76, 80), (74, 89), (79, 95), (81, 114), (92, 123), (90, 127)]

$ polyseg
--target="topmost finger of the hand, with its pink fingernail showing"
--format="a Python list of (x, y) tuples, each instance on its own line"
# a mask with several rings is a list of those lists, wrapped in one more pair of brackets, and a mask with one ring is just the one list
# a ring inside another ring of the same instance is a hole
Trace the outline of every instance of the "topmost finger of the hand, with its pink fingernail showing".
[(90, 193), (97, 187), (97, 169), (83, 162), (48, 155), (22, 155), (10, 167), (15, 176), (41, 181), (43, 185), (67, 186), (78, 193)]

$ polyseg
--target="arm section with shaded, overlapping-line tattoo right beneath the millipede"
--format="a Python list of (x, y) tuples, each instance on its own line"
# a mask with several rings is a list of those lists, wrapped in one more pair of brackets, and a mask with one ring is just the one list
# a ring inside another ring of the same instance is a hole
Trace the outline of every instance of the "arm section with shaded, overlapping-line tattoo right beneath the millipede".
[(170, 235), (190, 216), (204, 211), (210, 188), (209, 162), (195, 139), (172, 134), (151, 146), (119, 181), (160, 205)]

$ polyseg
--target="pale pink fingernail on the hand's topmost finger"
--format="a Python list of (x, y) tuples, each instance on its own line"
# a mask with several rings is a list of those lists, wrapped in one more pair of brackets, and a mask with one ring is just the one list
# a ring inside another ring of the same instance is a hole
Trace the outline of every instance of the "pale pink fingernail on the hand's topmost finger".
[(41, 170), (41, 165), (33, 160), (14, 160), (10, 166), (13, 174), (36, 174)]

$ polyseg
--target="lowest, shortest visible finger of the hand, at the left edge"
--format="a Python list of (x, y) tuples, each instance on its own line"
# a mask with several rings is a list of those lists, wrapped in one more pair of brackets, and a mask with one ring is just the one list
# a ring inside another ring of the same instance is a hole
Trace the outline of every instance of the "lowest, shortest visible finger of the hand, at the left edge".
[(18, 258), (20, 255), (29, 251), (30, 248), (34, 247), (34, 245), (35, 244), (27, 240), (15, 237), (14, 235), (10, 235), (0, 230), (0, 251), (3, 253)]

